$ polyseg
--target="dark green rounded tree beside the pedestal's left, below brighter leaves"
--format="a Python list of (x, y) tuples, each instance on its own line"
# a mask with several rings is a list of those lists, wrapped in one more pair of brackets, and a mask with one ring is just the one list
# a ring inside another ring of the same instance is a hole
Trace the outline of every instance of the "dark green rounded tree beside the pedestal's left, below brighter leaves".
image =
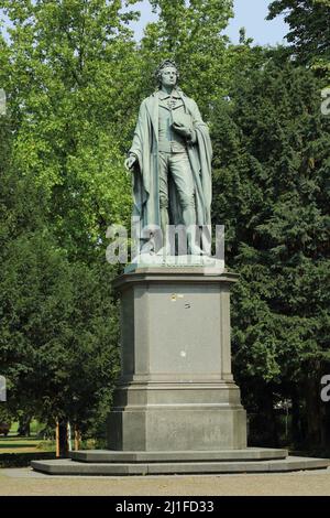
[(64, 414), (81, 423), (109, 402), (118, 323), (105, 270), (69, 263), (46, 230), (8, 247), (0, 346), (10, 404), (37, 401), (34, 414), (46, 422)]

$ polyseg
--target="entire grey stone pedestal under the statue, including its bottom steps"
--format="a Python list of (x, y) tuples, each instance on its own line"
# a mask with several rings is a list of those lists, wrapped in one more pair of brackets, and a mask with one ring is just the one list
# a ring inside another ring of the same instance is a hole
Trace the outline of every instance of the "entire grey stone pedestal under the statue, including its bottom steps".
[(327, 468), (324, 458), (246, 447), (245, 411), (230, 363), (230, 288), (201, 267), (138, 267), (121, 295), (122, 375), (109, 450), (33, 461), (50, 475), (278, 473)]

